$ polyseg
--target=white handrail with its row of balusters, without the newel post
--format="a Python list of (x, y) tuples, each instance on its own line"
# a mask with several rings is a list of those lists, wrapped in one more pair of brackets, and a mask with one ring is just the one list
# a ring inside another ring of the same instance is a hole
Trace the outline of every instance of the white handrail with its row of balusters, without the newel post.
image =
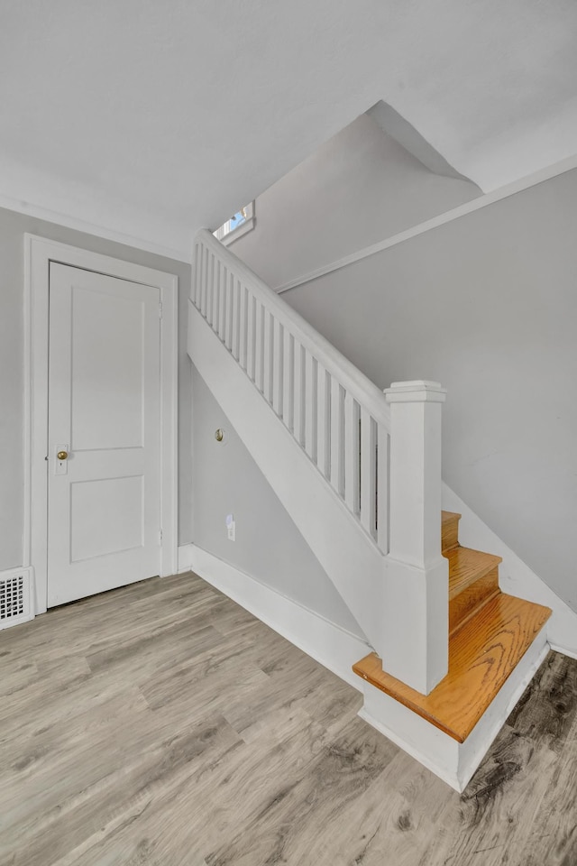
[(382, 553), (389, 549), (387, 401), (210, 232), (192, 301)]

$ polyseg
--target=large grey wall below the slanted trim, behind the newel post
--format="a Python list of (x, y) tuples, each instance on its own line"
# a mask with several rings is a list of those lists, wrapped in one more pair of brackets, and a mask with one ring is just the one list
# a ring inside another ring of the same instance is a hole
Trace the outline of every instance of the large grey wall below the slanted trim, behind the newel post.
[(572, 170), (283, 295), (381, 387), (444, 384), (444, 481), (573, 610), (576, 226)]

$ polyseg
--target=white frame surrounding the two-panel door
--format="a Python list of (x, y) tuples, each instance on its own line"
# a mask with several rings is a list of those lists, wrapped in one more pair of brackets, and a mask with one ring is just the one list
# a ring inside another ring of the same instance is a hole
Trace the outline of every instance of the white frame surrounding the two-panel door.
[(160, 289), (160, 575), (178, 571), (178, 288), (176, 274), (24, 235), (23, 565), (35, 576), (35, 610), (48, 594), (48, 291), (50, 262)]

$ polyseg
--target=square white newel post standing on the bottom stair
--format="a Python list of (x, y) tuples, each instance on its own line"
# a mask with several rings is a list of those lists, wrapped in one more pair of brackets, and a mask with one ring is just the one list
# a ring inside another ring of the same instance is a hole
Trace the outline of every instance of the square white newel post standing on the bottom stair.
[(439, 382), (393, 382), (389, 555), (385, 558), (383, 669), (427, 695), (447, 673), (448, 563), (441, 555)]

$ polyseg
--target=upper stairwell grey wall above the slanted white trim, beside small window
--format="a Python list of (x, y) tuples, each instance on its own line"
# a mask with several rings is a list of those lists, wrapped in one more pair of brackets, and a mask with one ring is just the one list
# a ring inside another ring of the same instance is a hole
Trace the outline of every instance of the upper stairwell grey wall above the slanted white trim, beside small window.
[(361, 115), (257, 198), (256, 229), (231, 249), (274, 288), (479, 194)]

